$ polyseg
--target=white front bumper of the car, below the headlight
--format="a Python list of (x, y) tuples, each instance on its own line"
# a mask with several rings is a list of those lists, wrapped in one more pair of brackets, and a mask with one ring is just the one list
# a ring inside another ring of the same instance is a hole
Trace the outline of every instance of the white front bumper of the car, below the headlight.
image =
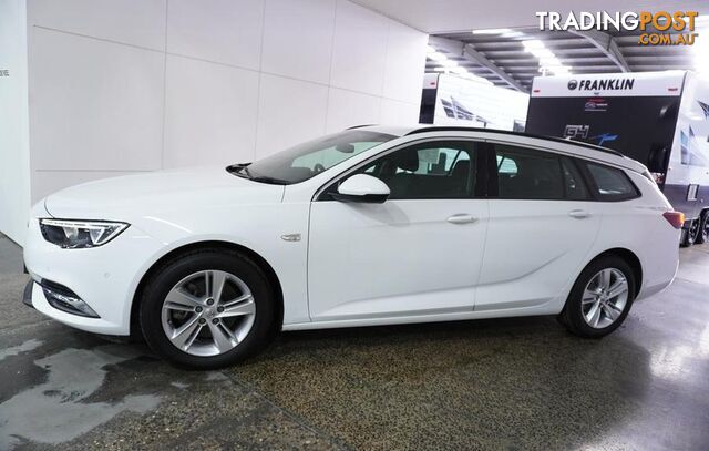
[[(25, 287), (23, 301), (78, 329), (105, 335), (130, 335), (131, 305), (137, 284), (153, 256), (163, 246), (141, 229), (131, 226), (103, 246), (63, 249), (44, 240), (35, 216), (30, 219), (24, 246), (24, 263), (32, 281)], [(38, 281), (41, 280), (51, 280), (70, 288), (76, 298), (95, 312), (95, 317), (80, 316), (71, 312), (71, 309), (62, 309), (56, 299), (48, 299), (51, 293), (40, 286)]]

